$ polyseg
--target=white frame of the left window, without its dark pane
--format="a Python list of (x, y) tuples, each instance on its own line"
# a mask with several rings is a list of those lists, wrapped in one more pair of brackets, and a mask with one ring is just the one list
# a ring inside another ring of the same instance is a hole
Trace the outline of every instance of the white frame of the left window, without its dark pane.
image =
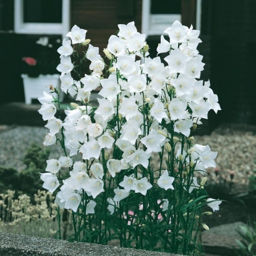
[(62, 0), (61, 23), (23, 22), (23, 0), (14, 2), (14, 32), (19, 34), (62, 35), (64, 38), (70, 28), (70, 0)]

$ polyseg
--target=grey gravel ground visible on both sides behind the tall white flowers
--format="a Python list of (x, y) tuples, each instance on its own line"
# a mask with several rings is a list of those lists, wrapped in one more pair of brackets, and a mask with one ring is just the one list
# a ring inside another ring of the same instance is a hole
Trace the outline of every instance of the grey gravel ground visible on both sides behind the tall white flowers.
[[(0, 126), (0, 166), (25, 168), (22, 159), (25, 151), (32, 143), (43, 147), (43, 139), (48, 129), (45, 127)], [(256, 165), (256, 127), (226, 124), (218, 127), (211, 135), (195, 136), (195, 142), (209, 145), (212, 151), (218, 151), (216, 165), (220, 176), (230, 180), (230, 172), (234, 171), (234, 182), (247, 184), (247, 177), (253, 174)], [(59, 158), (62, 149), (50, 146), (50, 158)], [(215, 178), (215, 171), (209, 170)], [(219, 176), (219, 177), (220, 177)]]

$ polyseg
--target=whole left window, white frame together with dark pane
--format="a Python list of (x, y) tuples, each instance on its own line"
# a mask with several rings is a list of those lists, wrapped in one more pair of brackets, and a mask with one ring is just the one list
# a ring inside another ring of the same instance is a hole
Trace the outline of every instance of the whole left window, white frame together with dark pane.
[(14, 30), (24, 34), (69, 32), (69, 0), (15, 0)]

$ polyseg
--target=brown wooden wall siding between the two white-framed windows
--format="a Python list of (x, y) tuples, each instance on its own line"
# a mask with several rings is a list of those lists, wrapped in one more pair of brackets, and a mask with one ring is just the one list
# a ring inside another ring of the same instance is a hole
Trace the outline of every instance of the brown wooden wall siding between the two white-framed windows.
[[(88, 30), (93, 46), (106, 48), (111, 35), (118, 32), (117, 24), (135, 22), (141, 32), (142, 0), (72, 0), (71, 27), (77, 25)], [(101, 52), (102, 54), (102, 52)]]

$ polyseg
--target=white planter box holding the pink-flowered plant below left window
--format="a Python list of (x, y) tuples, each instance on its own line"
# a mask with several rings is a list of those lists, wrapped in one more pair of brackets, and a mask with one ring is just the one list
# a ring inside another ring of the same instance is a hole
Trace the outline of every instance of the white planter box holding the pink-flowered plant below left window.
[[(38, 99), (43, 96), (43, 91), (50, 93), (49, 85), (59, 89), (59, 98), (61, 101), (63, 100), (64, 92), (61, 91), (61, 80), (58, 74), (39, 75), (38, 77), (28, 77), (28, 75), (22, 74), (21, 76), (23, 79), (25, 103), (27, 105), (32, 103), (32, 99)], [(57, 97), (56, 93), (53, 93), (53, 96)]]

